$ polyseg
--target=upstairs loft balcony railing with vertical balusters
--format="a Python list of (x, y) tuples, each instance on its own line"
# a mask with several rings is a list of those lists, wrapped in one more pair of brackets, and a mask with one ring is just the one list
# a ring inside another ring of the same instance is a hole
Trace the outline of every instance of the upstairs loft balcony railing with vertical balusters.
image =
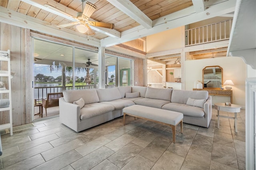
[(230, 38), (232, 22), (233, 19), (230, 19), (185, 30), (185, 46), (228, 40)]

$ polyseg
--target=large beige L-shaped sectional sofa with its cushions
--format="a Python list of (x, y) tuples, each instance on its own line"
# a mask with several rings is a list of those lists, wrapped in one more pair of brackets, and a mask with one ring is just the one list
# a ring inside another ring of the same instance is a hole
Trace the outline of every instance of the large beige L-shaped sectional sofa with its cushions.
[(183, 122), (208, 127), (212, 98), (208, 91), (126, 86), (63, 91), (60, 122), (80, 132), (123, 115), (123, 108), (144, 105), (183, 113)]

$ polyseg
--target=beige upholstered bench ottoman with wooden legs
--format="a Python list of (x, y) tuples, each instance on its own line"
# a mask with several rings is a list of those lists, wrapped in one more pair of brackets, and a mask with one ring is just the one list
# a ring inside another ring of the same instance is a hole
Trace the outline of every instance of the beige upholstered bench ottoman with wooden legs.
[(124, 108), (124, 125), (125, 115), (130, 115), (148, 121), (161, 123), (172, 127), (172, 137), (175, 143), (176, 126), (180, 124), (180, 132), (183, 133), (183, 114), (154, 107), (147, 107), (142, 105), (132, 105)]

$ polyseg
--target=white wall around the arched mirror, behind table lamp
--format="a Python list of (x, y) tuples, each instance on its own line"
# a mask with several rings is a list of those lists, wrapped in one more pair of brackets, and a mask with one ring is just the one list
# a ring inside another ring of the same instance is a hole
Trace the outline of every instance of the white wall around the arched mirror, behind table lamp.
[[(219, 57), (200, 60), (188, 60), (185, 63), (185, 83), (186, 90), (194, 88), (194, 81), (198, 80), (202, 83), (202, 70), (206, 66), (219, 65), (223, 69), (223, 81), (231, 79), (234, 83), (233, 104), (240, 105), (245, 108), (245, 79), (246, 64), (240, 57)], [(225, 85), (224, 85), (225, 87)], [(214, 103), (230, 102), (230, 97), (212, 96), (212, 105)]]

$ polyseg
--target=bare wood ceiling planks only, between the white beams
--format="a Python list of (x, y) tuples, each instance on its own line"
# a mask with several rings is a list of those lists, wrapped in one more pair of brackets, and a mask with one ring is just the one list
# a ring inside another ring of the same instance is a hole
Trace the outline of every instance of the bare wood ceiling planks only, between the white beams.
[[(14, 10), (21, 14), (25, 14), (27, 16), (31, 16), (37, 18), (42, 21), (49, 22), (54, 25), (67, 24), (73, 21), (70, 21), (62, 16), (58, 16), (51, 12), (48, 12), (44, 9), (38, 8), (26, 2), (36, 2), (39, 0), (1, 0), (0, 6)], [(41, 1), (41, 0), (40, 0)], [(45, 2), (51, 2), (53, 0), (48, 0)], [(76, 12), (82, 11), (82, 2), (81, 0), (54, 0), (59, 4), (62, 4)], [(124, 32), (140, 24), (133, 20), (128, 15), (124, 14), (121, 10), (113, 6), (107, 0), (89, 0), (89, 2), (93, 3), (97, 10), (90, 17), (92, 20), (96, 20), (98, 22), (108, 22), (113, 23), (115, 25), (114, 29), (118, 32)], [(188, 8), (192, 6), (192, 0), (131, 0), (131, 2), (141, 10), (148, 18), (151, 20), (155, 20), (162, 16), (171, 14), (173, 12), (177, 12), (178, 10), (182, 10), (184, 8)], [(37, 3), (37, 2), (36, 2)], [(51, 2), (54, 4), (53, 2)], [(76, 16), (74, 16), (76, 17)], [(78, 32), (76, 30), (76, 26), (70, 26), (67, 29), (72, 30), (74, 32)], [(97, 39), (103, 39), (108, 37), (106, 34), (102, 34), (101, 32), (96, 31), (96, 35), (93, 36)]]

